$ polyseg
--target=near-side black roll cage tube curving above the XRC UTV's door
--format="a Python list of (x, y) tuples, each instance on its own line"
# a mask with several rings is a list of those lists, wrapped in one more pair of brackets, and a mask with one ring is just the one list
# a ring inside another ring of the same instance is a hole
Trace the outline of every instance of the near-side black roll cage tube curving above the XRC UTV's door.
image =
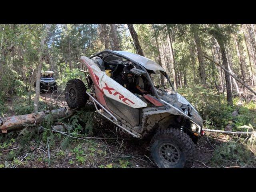
[[(141, 70), (143, 70), (144, 72), (146, 72), (147, 79), (148, 79), (148, 81), (149, 81), (149, 83), (150, 83), (150, 85), (151, 85), (151, 87), (152, 87), (152, 90), (153, 90), (153, 94), (154, 94), (153, 96), (156, 96), (156, 98), (160, 99), (158, 93), (156, 92), (156, 88), (155, 88), (155, 86), (154, 86), (154, 83), (152, 82), (152, 80), (151, 80), (151, 78), (150, 78), (150, 76), (149, 76), (149, 74), (148, 74), (148, 71), (146, 70), (146, 68), (144, 68), (143, 66), (141, 66), (138, 62), (136, 62), (136, 61), (134, 61), (134, 60), (132, 60), (132, 59), (130, 59), (130, 58), (128, 58), (128, 57), (122, 55), (122, 54), (119, 54), (119, 53), (116, 53), (116, 52), (114, 52), (114, 51), (111, 51), (111, 50), (104, 50), (104, 51), (102, 51), (102, 52), (98, 52), (98, 53), (96, 53), (96, 54), (90, 56), (89, 58), (91, 59), (91, 58), (93, 58), (93, 57), (96, 57), (96, 56), (98, 56), (98, 55), (104, 53), (104, 52), (112, 53), (112, 54), (114, 54), (114, 55), (116, 55), (116, 56), (120, 56), (120, 57), (122, 57), (122, 58), (125, 58), (125, 59), (127, 59), (127, 60), (130, 60), (131, 62), (133, 62), (133, 63), (135, 64), (136, 67), (138, 67), (138, 68), (140, 68)], [(106, 56), (105, 56), (105, 57), (106, 57)], [(170, 80), (169, 80), (169, 82), (170, 82)]]

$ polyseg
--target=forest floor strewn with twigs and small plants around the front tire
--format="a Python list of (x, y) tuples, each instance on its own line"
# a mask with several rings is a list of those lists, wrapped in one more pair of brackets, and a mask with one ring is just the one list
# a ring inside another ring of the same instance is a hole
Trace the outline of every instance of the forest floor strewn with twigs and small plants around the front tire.
[[(57, 94), (40, 94), (40, 98), (49, 106), (67, 106), (64, 97)], [(12, 100), (7, 104), (10, 106), (8, 116), (14, 115)], [(96, 118), (95, 121), (97, 129), (92, 137), (106, 139), (72, 139), (66, 147), (63, 147), (66, 139), (59, 133), (54, 134), (55, 143), (48, 147), (48, 142), (34, 138), (19, 140), (23, 135), (19, 132), (17, 139), (8, 138), (0, 143), (0, 168), (156, 168), (148, 140), (132, 138), (107, 120)], [(238, 140), (237, 136), (206, 132), (196, 145), (192, 168), (256, 167), (252, 149)], [(242, 148), (234, 148), (236, 145)], [(225, 154), (229, 150), (232, 158)]]

